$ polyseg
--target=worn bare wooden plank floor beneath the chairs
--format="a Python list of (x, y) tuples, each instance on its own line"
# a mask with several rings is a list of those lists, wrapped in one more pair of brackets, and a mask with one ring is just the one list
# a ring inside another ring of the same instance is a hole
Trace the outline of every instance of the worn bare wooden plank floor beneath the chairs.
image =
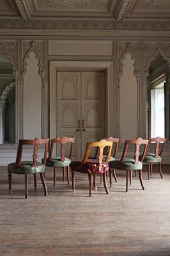
[[(102, 184), (88, 197), (86, 175), (75, 173), (76, 191), (64, 184), (58, 171), (52, 186), (52, 169), (46, 173), (49, 195), (43, 196), (38, 178), (36, 193), (29, 176), (24, 199), (24, 177), (13, 175), (8, 194), (6, 166), (0, 171), (0, 255), (7, 256), (169, 256), (170, 166), (157, 166), (151, 180), (144, 168), (141, 189), (134, 177), (125, 192), (125, 173), (117, 173), (109, 195)], [(109, 186), (109, 180), (108, 180)]]

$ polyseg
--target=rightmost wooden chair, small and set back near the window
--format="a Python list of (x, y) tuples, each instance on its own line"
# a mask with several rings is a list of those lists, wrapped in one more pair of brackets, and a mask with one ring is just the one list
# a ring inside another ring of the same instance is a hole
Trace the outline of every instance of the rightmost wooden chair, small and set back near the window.
[[(164, 151), (164, 147), (166, 145), (166, 138), (150, 138), (148, 143), (148, 149), (146, 156), (143, 159), (144, 163), (148, 163), (148, 180), (152, 174), (153, 164), (158, 163), (158, 170), (160, 173), (160, 177), (163, 179), (162, 170), (161, 170), (161, 161), (162, 161), (162, 153)], [(153, 147), (152, 147), (153, 146)], [(148, 152), (148, 150), (150, 152)]]

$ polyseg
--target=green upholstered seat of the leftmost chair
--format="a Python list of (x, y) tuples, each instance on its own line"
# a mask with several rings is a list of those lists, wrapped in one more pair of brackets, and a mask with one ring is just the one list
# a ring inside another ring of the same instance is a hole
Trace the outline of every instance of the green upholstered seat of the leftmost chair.
[(19, 168), (13, 169), (15, 163), (8, 164), (8, 173), (15, 174), (33, 174), (45, 172), (45, 165), (38, 162), (38, 167), (33, 167), (33, 161), (22, 161)]

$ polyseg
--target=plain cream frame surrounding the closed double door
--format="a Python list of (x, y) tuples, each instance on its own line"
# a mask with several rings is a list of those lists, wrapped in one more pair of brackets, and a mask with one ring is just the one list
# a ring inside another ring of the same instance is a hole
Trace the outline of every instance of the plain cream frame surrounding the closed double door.
[(57, 131), (57, 72), (105, 72), (105, 136), (114, 136), (114, 88), (112, 61), (49, 61), (49, 136)]

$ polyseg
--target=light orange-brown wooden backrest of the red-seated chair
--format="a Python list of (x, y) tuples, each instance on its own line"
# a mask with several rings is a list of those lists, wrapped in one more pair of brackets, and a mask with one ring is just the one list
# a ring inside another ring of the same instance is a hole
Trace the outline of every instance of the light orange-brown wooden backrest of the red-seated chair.
[[(86, 144), (86, 151), (84, 154), (84, 158), (82, 161), (82, 165), (84, 165), (89, 158), (89, 152), (91, 148), (96, 147), (98, 149), (98, 157), (95, 159), (98, 161), (98, 170), (102, 169), (102, 162), (104, 161), (105, 163), (108, 163), (109, 158), (111, 156), (111, 151), (112, 151), (112, 141), (107, 141), (107, 140), (100, 140), (100, 141), (93, 141), (93, 142), (88, 142)], [(107, 155), (104, 158), (104, 148), (108, 147), (109, 149), (107, 150)]]

